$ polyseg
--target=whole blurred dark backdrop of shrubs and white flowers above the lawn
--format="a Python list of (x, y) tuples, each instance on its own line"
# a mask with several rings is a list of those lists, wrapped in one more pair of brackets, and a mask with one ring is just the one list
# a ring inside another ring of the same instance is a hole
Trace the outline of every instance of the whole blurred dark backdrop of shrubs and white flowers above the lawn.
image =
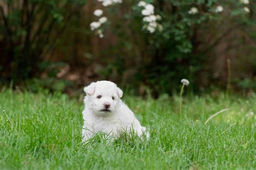
[(1, 85), (79, 94), (256, 90), (256, 1), (1, 0)]

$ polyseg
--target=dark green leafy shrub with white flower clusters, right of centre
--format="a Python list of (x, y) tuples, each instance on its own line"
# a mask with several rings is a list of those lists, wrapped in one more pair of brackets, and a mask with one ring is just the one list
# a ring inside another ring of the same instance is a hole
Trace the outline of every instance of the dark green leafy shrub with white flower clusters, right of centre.
[[(250, 18), (251, 9), (254, 8), (250, 7), (251, 2), (248, 0), (99, 2), (102, 3), (104, 16), (109, 18), (109, 25), (92, 22), (91, 30), (103, 37), (104, 30), (110, 29), (120, 39), (116, 43), (118, 50), (107, 53), (126, 56), (121, 58), (124, 63), (131, 63), (128, 67), (136, 67), (135, 77), (147, 80), (147, 84), (153, 84), (154, 87), (158, 84), (159, 87), (155, 88), (165, 91), (170, 91), (173, 84), (177, 83), (172, 81), (176, 77), (192, 75), (203, 69), (201, 62), (205, 60), (205, 52), (218, 44), (218, 40), (202, 44), (200, 39), (204, 37), (200, 35), (201, 28), (218, 24), (224, 19), (237, 22), (233, 22), (234, 25), (241, 24), (244, 19)], [(220, 30), (221, 33), (224, 32)], [(124, 52), (127, 47), (140, 49), (129, 56)], [(122, 70), (120, 67), (124, 65), (112, 64), (112, 70), (114, 67)], [(120, 71), (119, 74), (122, 73)]]

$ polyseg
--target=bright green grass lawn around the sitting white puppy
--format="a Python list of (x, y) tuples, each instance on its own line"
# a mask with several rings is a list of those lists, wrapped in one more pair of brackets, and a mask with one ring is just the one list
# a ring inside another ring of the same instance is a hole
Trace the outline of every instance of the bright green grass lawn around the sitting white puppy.
[(82, 98), (2, 90), (0, 169), (256, 169), (256, 94), (188, 96), (181, 120), (177, 96), (123, 100), (150, 140), (96, 137), (84, 146)]

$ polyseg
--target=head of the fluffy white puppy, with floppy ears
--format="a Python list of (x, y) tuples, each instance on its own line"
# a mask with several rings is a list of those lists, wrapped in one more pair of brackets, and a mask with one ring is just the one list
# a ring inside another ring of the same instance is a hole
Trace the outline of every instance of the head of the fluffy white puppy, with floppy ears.
[(93, 113), (98, 115), (109, 115), (113, 113), (123, 91), (111, 81), (97, 81), (84, 87), (86, 93), (85, 104)]

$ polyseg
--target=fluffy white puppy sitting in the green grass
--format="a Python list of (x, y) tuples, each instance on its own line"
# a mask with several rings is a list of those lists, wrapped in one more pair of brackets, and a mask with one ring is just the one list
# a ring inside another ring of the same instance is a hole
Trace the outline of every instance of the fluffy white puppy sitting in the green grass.
[(123, 91), (111, 81), (97, 81), (84, 87), (85, 108), (83, 111), (83, 141), (93, 137), (97, 132), (109, 134), (111, 137), (119, 137), (124, 131), (134, 131), (139, 137), (149, 133), (140, 125), (133, 112), (120, 99)]

